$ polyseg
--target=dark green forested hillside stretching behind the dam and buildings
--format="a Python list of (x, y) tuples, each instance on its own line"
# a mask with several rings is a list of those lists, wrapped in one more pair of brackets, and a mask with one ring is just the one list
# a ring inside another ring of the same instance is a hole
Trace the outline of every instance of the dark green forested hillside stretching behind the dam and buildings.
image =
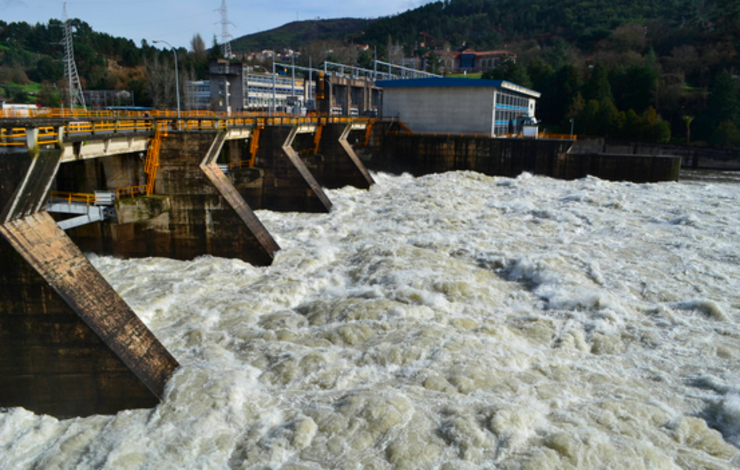
[[(138, 104), (172, 105), (170, 51), (74, 24), (86, 89), (130, 89)], [(0, 30), (1, 92), (58, 102), (59, 22), (0, 21)], [(517, 60), (484, 77), (542, 92), (537, 115), (551, 131), (572, 124), (579, 134), (740, 147), (740, 0), (444, 0), (376, 20), (290, 23), (235, 39), (232, 50), (289, 46), (303, 53), (299, 63), (371, 66), (356, 44), (382, 59), (429, 55), (429, 63), (444, 50), (506, 49)], [(209, 54), (218, 48), (207, 51), (200, 37), (179, 49), (181, 79), (204, 77)]]

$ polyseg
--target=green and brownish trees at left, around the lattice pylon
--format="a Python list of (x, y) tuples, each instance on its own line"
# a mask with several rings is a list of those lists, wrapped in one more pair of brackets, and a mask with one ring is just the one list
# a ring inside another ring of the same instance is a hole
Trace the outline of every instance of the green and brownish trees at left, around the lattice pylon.
[[(174, 92), (163, 91), (167, 83), (174, 86), (170, 51), (159, 50), (146, 41), (137, 46), (130, 39), (93, 31), (79, 19), (72, 19), (71, 24), (75, 64), (85, 90), (132, 91), (137, 103), (143, 105), (152, 105), (155, 98), (165, 94), (168, 99), (158, 104), (175, 102)], [(56, 19), (36, 25), (0, 21), (0, 98), (60, 105), (66, 86), (63, 34), (62, 24)], [(183, 78), (205, 76), (207, 51), (202, 39), (200, 44), (190, 53), (178, 51)]]

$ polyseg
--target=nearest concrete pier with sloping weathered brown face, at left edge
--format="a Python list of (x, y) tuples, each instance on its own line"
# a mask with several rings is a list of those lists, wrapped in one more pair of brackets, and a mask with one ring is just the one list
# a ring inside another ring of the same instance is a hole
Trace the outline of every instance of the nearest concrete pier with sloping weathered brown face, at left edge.
[(62, 152), (25, 157), (0, 174), (0, 406), (61, 418), (155, 405), (177, 361), (43, 210)]

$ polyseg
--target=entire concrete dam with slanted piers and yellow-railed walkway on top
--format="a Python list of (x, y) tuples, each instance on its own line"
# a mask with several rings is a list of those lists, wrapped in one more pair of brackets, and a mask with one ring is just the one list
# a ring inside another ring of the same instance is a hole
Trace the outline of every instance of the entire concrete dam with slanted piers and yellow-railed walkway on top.
[[(50, 112), (0, 119), (0, 406), (58, 418), (156, 406), (176, 358), (84, 253), (257, 266), (255, 210), (329, 212), (368, 169), (674, 180), (680, 158), (574, 141), (413, 133), (396, 119)], [(607, 158), (608, 157), (608, 158)], [(625, 164), (625, 162), (628, 162)], [(602, 175), (599, 175), (599, 171)], [(620, 173), (621, 172), (621, 173)]]

